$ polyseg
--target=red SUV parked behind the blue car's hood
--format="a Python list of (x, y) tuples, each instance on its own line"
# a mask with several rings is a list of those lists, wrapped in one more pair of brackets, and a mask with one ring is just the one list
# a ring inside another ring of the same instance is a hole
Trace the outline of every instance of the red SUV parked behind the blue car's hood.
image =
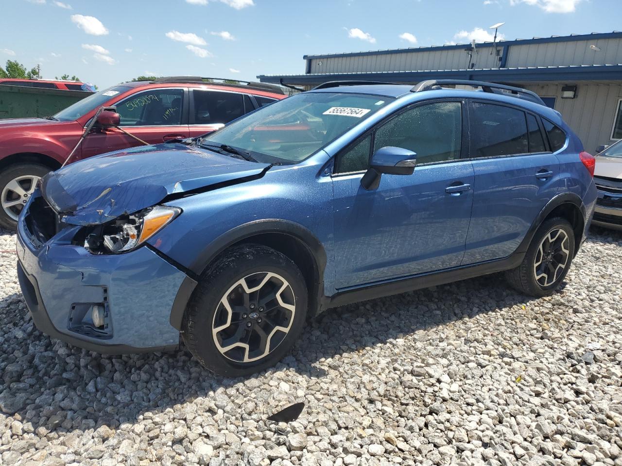
[[(124, 130), (149, 144), (199, 136), (285, 98), (279, 86), (177, 76), (105, 89), (43, 118), (0, 120), (0, 225), (14, 229), (39, 178), (60, 168), (100, 107), (116, 107)], [(213, 80), (211, 80), (213, 81)], [(95, 124), (67, 163), (139, 145), (116, 128)]]

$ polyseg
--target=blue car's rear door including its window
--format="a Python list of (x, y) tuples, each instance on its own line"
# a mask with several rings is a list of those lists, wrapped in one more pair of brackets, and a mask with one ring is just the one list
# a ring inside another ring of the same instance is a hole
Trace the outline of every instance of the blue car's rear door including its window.
[(542, 137), (527, 121), (513, 107), (470, 107), (471, 156), (486, 158), (473, 160), (475, 195), (463, 265), (512, 254), (559, 189), (557, 157), (529, 153), (542, 149)]

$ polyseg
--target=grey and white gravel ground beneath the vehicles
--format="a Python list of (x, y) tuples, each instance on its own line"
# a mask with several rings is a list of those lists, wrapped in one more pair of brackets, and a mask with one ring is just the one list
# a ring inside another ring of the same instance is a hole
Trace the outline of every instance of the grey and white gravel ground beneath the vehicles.
[[(593, 231), (550, 298), (493, 275), (335, 309), (236, 380), (183, 349), (50, 340), (15, 260), (0, 254), (0, 464), (622, 466), (621, 234)], [(295, 401), (297, 421), (266, 421)]]

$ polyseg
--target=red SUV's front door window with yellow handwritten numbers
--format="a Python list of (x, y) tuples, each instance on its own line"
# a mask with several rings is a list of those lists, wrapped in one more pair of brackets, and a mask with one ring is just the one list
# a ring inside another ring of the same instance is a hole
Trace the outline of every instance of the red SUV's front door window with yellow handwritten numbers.
[(121, 126), (178, 126), (183, 89), (149, 89), (116, 104)]

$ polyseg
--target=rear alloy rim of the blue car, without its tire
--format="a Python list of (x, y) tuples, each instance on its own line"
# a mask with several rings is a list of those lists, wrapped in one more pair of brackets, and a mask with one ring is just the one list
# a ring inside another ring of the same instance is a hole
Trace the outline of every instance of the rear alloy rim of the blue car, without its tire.
[(549, 286), (564, 272), (570, 257), (570, 240), (560, 228), (545, 235), (536, 252), (534, 274), (541, 286)]

